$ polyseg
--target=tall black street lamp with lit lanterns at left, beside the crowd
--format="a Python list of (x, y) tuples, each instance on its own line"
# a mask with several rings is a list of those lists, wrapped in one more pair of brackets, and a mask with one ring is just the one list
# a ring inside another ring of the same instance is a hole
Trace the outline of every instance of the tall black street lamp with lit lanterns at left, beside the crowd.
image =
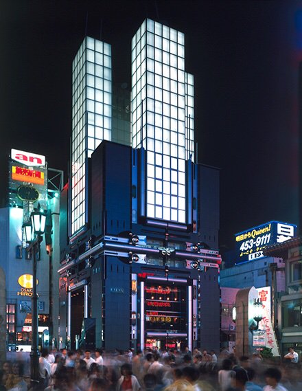
[(40, 252), (40, 243), (45, 231), (46, 214), (40, 210), (32, 212), (30, 221), (23, 224), (25, 241), (29, 244), (28, 252), (33, 254), (32, 264), (32, 351), (30, 353), (30, 381), (32, 388), (39, 381), (39, 351), (38, 351), (38, 295), (36, 293), (36, 254)]

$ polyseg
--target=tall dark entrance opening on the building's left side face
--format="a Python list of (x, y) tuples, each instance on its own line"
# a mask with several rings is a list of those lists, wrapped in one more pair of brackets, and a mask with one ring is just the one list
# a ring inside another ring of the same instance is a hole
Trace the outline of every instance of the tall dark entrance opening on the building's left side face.
[(75, 349), (75, 336), (81, 337), (84, 317), (84, 291), (78, 289), (71, 293), (71, 349)]

